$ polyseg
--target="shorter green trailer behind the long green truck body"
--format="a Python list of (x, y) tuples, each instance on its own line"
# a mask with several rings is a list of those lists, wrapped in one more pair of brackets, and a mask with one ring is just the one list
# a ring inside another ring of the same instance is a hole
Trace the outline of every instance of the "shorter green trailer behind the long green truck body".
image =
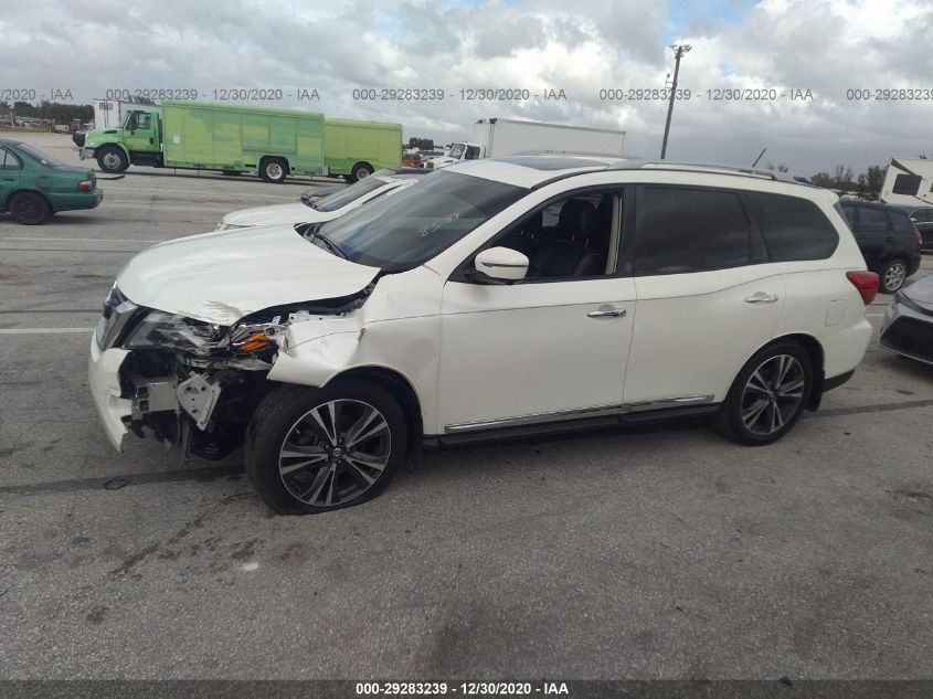
[(353, 119), (324, 120), (327, 173), (356, 182), (402, 165), (402, 125)]

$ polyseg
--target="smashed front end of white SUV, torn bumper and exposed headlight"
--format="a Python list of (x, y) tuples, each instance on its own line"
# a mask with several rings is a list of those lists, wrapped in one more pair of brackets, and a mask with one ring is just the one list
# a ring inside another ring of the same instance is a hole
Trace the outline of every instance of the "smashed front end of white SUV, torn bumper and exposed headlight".
[(304, 374), (296, 383), (314, 385), (322, 385), (339, 370), (329, 357), (331, 361), (320, 358), (320, 371), (309, 371), (308, 363), (295, 367), (288, 353), (295, 339), (291, 331), (303, 328), (299, 345), (309, 345), (316, 336), (324, 336), (326, 347), (340, 336), (357, 345), (362, 333), (360, 316), (353, 311), (370, 290), (333, 299), (329, 308), (309, 304), (315, 313), (261, 311), (261, 320), (253, 317), (221, 329), (220, 339), (189, 352), (137, 347), (136, 329), (150, 313), (161, 311), (136, 306), (115, 287), (91, 339), (88, 360), (88, 385), (110, 443), (121, 451), (127, 432), (139, 437), (152, 433), (160, 442), (180, 445), (184, 457), (189, 453), (209, 459), (225, 456), (242, 445), (256, 405), (280, 381), (274, 375), (279, 364), (288, 368), (285, 374), (289, 377)]

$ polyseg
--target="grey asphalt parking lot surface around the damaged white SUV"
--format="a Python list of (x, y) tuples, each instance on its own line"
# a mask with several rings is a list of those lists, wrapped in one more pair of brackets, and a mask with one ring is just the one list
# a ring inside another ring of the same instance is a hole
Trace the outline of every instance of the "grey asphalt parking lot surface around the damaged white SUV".
[(99, 186), (0, 219), (0, 676), (933, 676), (933, 367), (876, 335), (772, 446), (687, 423), (428, 453), (372, 502), (276, 517), (238, 453), (114, 452), (85, 364), (134, 253), (308, 182)]

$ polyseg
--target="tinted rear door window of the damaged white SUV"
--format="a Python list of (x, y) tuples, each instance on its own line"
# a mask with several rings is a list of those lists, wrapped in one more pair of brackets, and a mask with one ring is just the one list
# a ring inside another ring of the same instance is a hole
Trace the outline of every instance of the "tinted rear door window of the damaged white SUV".
[(749, 264), (751, 227), (735, 192), (646, 187), (638, 274), (678, 274)]

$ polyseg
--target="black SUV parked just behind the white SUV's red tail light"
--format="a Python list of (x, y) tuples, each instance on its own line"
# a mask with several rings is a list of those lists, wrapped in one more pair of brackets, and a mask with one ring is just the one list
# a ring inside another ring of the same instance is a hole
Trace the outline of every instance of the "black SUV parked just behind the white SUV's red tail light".
[(920, 267), (920, 231), (899, 206), (845, 199), (839, 203), (866, 265), (880, 277), (879, 290), (893, 294)]

